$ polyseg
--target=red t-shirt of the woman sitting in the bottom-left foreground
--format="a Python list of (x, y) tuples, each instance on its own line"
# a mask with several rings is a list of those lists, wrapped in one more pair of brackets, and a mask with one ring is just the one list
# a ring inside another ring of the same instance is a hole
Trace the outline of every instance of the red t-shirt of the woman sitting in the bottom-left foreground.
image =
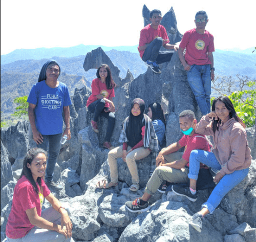
[[(49, 188), (42, 180), (43, 196), (46, 197), (50, 194)], [(37, 184), (39, 189), (39, 185)], [(40, 189), (39, 189), (40, 191)], [(33, 227), (29, 222), (26, 210), (30, 208), (36, 208), (38, 216), (41, 216), (39, 194), (36, 193), (34, 187), (25, 175), (20, 178), (14, 188), (11, 213), (8, 217), (6, 225), (6, 236), (9, 238), (22, 238)]]

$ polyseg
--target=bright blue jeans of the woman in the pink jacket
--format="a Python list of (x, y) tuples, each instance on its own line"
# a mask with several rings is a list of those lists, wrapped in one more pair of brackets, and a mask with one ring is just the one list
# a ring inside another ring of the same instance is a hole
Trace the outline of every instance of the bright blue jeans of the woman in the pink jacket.
[[(189, 179), (197, 180), (200, 162), (214, 169), (221, 170), (221, 165), (214, 153), (199, 149), (192, 150), (189, 157), (189, 173), (187, 175)], [(230, 174), (225, 174), (202, 207), (207, 208), (210, 213), (213, 213), (223, 197), (246, 178), (248, 171), (249, 168), (246, 168), (243, 170), (235, 170)]]

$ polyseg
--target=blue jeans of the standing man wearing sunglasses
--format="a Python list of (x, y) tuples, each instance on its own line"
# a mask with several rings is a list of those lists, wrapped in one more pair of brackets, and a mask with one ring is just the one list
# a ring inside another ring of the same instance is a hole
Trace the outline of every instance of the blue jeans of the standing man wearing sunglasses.
[(202, 115), (210, 113), (210, 65), (191, 65), (190, 70), (187, 72), (187, 81), (195, 95)]

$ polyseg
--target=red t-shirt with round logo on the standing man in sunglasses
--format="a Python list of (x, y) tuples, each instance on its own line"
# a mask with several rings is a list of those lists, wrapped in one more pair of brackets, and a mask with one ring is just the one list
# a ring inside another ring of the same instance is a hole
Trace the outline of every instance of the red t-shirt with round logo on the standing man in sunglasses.
[(207, 30), (199, 34), (196, 29), (191, 29), (183, 35), (180, 47), (186, 48), (185, 60), (189, 65), (211, 64), (207, 53), (215, 51), (214, 36)]

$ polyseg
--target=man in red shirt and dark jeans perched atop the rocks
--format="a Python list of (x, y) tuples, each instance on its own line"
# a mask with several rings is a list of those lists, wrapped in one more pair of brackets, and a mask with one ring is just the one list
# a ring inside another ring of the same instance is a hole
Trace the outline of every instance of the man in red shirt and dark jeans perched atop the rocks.
[(160, 51), (163, 46), (167, 50), (174, 49), (177, 51), (179, 48), (175, 45), (169, 44), (169, 38), (165, 28), (160, 25), (162, 20), (162, 13), (160, 10), (154, 9), (150, 12), (151, 24), (145, 26), (140, 31), (140, 41), (138, 50), (140, 57), (145, 64), (151, 68), (155, 73), (160, 74), (161, 70), (158, 64), (170, 61), (173, 52)]

